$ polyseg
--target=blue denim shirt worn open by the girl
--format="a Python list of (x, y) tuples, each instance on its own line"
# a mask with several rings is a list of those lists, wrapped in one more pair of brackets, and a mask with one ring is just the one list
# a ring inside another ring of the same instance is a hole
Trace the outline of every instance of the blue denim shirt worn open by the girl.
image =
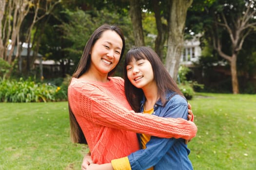
[[(188, 117), (187, 101), (174, 92), (168, 92), (165, 106), (158, 100), (154, 113), (158, 117)], [(145, 98), (141, 101), (140, 111), (143, 112)], [(188, 158), (190, 150), (182, 138), (159, 138), (151, 136), (146, 149), (140, 149), (128, 156), (132, 170), (146, 170), (154, 166), (154, 170), (193, 170)]]

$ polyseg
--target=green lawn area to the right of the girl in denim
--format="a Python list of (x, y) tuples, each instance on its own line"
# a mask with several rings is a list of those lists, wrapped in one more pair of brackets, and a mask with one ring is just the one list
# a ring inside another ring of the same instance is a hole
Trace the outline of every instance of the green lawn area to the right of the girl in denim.
[(200, 94), (192, 101), (195, 170), (256, 170), (256, 95)]

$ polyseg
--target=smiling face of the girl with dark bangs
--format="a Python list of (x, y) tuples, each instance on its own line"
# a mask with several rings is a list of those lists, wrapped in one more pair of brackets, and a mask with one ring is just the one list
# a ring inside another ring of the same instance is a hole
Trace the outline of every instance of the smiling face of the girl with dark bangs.
[(155, 85), (154, 73), (150, 62), (146, 59), (133, 58), (126, 66), (127, 77), (137, 88), (148, 88)]

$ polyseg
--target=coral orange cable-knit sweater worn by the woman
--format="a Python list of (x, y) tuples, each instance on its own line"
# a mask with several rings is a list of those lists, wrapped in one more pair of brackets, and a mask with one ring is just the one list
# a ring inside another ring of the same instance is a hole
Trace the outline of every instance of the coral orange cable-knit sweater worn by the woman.
[(136, 133), (190, 139), (197, 126), (184, 119), (164, 119), (135, 113), (124, 94), (120, 77), (107, 83), (72, 78), (68, 100), (88, 142), (94, 163), (110, 163), (139, 149)]

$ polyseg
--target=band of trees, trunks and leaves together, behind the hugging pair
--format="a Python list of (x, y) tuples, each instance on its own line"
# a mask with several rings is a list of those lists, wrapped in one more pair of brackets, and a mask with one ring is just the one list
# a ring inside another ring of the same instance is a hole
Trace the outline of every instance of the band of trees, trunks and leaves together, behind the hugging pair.
[(255, 14), (255, 0), (2, 0), (0, 58), (12, 70), (29, 44), (20, 74), (30, 72), (38, 53), (61, 64), (60, 76), (72, 74), (89, 36), (109, 23), (123, 30), (126, 51), (152, 47), (176, 79), (184, 38), (200, 33), (203, 55), (228, 63), (239, 93), (237, 77), (255, 74)]

